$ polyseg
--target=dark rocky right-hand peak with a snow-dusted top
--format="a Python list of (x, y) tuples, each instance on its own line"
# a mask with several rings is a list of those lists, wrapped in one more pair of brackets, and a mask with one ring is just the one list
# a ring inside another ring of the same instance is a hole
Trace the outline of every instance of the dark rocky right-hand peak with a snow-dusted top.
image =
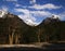
[(47, 17), (44, 18), (40, 25), (46, 25), (46, 24), (50, 24), (50, 23), (56, 23), (56, 22), (60, 22), (60, 18), (55, 15), (52, 15), (51, 17)]

